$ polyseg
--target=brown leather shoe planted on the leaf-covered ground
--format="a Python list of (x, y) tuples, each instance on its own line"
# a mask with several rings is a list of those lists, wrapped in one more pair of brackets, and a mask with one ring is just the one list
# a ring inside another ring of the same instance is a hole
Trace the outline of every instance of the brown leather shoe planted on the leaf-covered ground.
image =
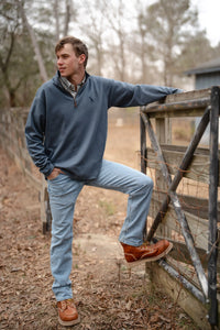
[(58, 321), (62, 326), (68, 327), (80, 322), (80, 318), (73, 299), (58, 301), (57, 307)]

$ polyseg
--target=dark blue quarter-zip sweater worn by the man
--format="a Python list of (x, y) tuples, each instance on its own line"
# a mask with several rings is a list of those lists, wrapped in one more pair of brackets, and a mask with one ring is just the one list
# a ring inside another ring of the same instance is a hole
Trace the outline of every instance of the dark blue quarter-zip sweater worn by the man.
[(45, 177), (58, 167), (74, 179), (97, 178), (107, 140), (108, 109), (145, 106), (179, 91), (86, 73), (74, 102), (59, 77), (57, 72), (37, 90), (25, 125), (29, 153)]

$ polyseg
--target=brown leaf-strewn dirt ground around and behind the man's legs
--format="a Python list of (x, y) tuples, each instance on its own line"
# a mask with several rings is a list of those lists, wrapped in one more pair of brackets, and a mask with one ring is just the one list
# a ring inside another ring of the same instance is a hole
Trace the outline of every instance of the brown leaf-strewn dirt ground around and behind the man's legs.
[[(139, 168), (138, 150), (138, 129), (110, 125), (109, 160)], [(2, 148), (0, 160), (0, 329), (68, 329), (57, 322), (38, 193)], [(108, 190), (85, 188), (78, 198), (70, 278), (81, 322), (74, 329), (198, 329), (152, 289), (144, 266), (130, 272), (123, 264), (117, 238), (125, 207), (125, 196)]]

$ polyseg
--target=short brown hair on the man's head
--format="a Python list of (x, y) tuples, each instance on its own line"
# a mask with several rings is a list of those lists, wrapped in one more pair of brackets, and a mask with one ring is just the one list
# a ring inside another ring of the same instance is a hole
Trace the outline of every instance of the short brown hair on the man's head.
[(56, 46), (55, 46), (55, 53), (57, 53), (58, 51), (61, 51), (64, 47), (65, 44), (72, 44), (73, 45), (73, 48), (74, 48), (75, 54), (76, 54), (77, 57), (80, 56), (81, 54), (86, 55), (86, 59), (84, 62), (84, 66), (86, 68), (87, 61), (88, 61), (88, 57), (89, 57), (87, 46), (79, 38), (77, 38), (77, 37), (65, 36), (65, 37), (61, 38), (58, 41), (58, 43), (56, 44)]

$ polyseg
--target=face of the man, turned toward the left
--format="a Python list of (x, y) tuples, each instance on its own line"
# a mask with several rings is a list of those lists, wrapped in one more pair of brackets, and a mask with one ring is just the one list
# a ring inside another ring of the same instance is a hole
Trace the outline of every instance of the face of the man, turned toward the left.
[(56, 53), (57, 67), (62, 77), (73, 77), (84, 69), (85, 54), (76, 56), (72, 44), (64, 44), (64, 47)]

